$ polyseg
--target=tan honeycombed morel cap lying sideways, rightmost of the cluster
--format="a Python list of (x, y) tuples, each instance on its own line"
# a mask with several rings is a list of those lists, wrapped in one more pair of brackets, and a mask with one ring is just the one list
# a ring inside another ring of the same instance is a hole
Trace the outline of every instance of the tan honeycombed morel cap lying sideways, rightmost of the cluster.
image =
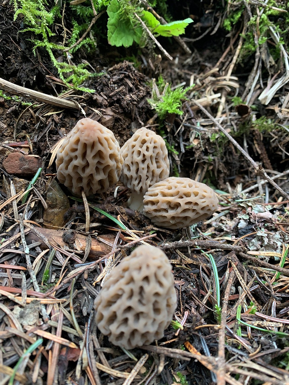
[(157, 226), (180, 229), (211, 216), (218, 198), (204, 183), (170, 177), (148, 189), (143, 205), (144, 214)]

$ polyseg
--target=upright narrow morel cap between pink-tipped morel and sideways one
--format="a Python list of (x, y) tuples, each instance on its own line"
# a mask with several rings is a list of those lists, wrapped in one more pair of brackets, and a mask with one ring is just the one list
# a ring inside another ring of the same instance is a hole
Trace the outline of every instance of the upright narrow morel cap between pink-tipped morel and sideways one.
[(170, 174), (165, 141), (145, 127), (136, 130), (121, 147), (121, 154), (124, 159), (121, 181), (137, 194), (144, 194), (151, 185)]

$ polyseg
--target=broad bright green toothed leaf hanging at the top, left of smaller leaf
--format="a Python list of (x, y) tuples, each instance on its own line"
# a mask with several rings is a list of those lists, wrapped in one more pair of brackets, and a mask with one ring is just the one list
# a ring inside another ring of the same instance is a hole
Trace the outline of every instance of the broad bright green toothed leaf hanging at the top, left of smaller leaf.
[(108, 42), (111, 45), (129, 47), (135, 41), (139, 44), (143, 30), (134, 27), (129, 18), (122, 18), (119, 14), (121, 6), (117, 0), (112, 0), (108, 6)]

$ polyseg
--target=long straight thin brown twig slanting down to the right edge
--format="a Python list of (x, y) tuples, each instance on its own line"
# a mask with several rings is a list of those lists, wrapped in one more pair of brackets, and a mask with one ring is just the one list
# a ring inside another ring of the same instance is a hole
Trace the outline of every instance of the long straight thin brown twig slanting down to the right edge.
[[(192, 99), (193, 100), (193, 99)], [(220, 125), (220, 123), (218, 123), (216, 121), (216, 119), (200, 104), (197, 102), (197, 100), (193, 100), (193, 102), (199, 107), (200, 110), (202, 110), (210, 119), (211, 121), (218, 127), (218, 129), (220, 131), (223, 132), (223, 134), (229, 139), (230, 142), (232, 142), (234, 144), (235, 147), (237, 147), (237, 149), (244, 155), (244, 157), (252, 164), (252, 166), (254, 167), (255, 169), (255, 172), (257, 175), (260, 175), (262, 177), (264, 177), (269, 183), (272, 184), (272, 186), (274, 188), (276, 188), (280, 194), (287, 200), (289, 200), (289, 195), (283, 190), (281, 189), (281, 187), (279, 187), (274, 181), (273, 179), (267, 174), (267, 172), (265, 172), (265, 170), (263, 169), (263, 167), (261, 167), (259, 164), (257, 164), (251, 157), (249, 154), (247, 154), (247, 152), (244, 151), (244, 149), (242, 149), (242, 147), (239, 145), (239, 143), (237, 143), (235, 141), (235, 139), (230, 135), (228, 134), (228, 132), (223, 129), (223, 127)]]

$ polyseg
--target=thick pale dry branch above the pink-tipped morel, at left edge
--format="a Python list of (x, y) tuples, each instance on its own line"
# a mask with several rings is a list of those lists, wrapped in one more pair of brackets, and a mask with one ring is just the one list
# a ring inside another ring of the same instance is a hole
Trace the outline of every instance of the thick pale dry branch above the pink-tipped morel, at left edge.
[(61, 99), (52, 95), (43, 94), (42, 92), (30, 90), (29, 88), (21, 87), (20, 85), (13, 84), (1, 78), (0, 89), (12, 92), (13, 94), (31, 97), (31, 99), (37, 100), (42, 103), (57, 105), (58, 107), (68, 108), (72, 110), (80, 109), (79, 105), (72, 102), (71, 100)]

